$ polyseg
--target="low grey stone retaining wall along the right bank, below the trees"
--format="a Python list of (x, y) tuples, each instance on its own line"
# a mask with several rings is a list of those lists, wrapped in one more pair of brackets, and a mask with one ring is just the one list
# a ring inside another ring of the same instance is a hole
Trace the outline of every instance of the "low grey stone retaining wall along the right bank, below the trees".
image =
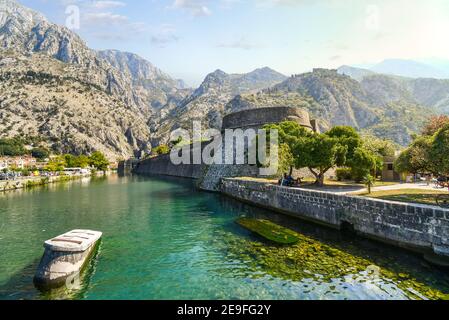
[(223, 179), (221, 192), (335, 228), (350, 224), (362, 235), (449, 257), (449, 210), (242, 179)]

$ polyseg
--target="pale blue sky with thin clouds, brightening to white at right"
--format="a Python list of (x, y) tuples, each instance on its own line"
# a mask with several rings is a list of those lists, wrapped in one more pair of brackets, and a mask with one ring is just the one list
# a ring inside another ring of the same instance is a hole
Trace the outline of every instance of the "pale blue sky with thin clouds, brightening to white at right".
[[(19, 0), (94, 49), (137, 53), (198, 85), (209, 72), (286, 75), (388, 58), (449, 58), (447, 0)], [(69, 7), (70, 8), (70, 7)]]

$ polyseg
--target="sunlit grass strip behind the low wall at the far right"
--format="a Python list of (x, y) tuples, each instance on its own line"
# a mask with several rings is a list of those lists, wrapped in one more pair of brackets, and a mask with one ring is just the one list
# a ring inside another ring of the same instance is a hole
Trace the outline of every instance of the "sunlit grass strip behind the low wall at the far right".
[(371, 194), (363, 193), (357, 195), (383, 200), (436, 205), (436, 196), (439, 194), (449, 195), (449, 192), (437, 190), (400, 189), (375, 191)]

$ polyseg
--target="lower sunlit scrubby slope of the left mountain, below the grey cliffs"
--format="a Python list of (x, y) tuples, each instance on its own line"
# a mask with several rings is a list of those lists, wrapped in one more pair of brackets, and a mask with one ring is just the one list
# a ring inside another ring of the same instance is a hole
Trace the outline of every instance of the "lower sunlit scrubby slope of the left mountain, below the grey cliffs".
[(147, 147), (139, 109), (85, 77), (91, 69), (45, 54), (0, 53), (0, 136), (39, 137), (56, 152), (101, 151), (111, 160)]

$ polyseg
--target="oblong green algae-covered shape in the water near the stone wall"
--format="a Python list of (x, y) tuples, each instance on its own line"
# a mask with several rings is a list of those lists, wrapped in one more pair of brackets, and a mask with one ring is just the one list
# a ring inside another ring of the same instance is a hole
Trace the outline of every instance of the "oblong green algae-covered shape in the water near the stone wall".
[(268, 220), (240, 218), (237, 224), (277, 244), (291, 245), (299, 242), (295, 232)]

